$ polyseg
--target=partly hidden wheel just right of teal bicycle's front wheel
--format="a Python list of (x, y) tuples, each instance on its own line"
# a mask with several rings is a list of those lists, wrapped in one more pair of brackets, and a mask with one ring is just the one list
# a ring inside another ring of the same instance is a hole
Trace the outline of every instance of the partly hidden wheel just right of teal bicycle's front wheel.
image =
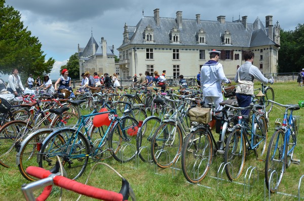
[(160, 125), (161, 119), (159, 117), (149, 116), (138, 129), (136, 149), (143, 162), (151, 161), (151, 138)]

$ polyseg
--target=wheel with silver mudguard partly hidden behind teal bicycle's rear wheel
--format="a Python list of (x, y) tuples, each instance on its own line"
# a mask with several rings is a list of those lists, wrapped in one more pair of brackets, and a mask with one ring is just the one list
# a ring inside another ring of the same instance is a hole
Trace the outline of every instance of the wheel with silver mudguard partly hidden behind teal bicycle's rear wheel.
[(21, 175), (29, 180), (35, 181), (36, 177), (28, 175), (26, 168), (29, 166), (39, 166), (37, 163), (37, 153), (40, 151), (42, 142), (52, 132), (51, 129), (35, 131), (29, 134), (20, 146), (20, 151), (17, 153), (17, 165)]

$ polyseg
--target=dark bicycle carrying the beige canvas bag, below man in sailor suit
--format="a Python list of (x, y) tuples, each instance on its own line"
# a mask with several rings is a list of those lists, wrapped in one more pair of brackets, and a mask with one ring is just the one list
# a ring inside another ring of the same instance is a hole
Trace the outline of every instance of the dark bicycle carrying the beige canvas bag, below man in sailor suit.
[(214, 126), (216, 133), (219, 134), (218, 141), (211, 132), (211, 122), (209, 124), (192, 123), (193, 128), (184, 140), (181, 151), (181, 168), (188, 182), (201, 182), (208, 173), (213, 157), (224, 156), (229, 129), (236, 121), (235, 115), (225, 105), (232, 104), (232, 100), (221, 102), (220, 105), (224, 106), (221, 111), (215, 111), (212, 104), (207, 106), (211, 108), (209, 120), (216, 120)]

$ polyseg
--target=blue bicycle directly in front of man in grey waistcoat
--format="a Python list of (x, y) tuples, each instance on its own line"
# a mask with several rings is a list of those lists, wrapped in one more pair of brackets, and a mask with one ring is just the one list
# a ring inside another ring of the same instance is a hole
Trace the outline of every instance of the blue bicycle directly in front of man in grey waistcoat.
[[(257, 160), (262, 160), (260, 157), (265, 151), (268, 129), (263, 106), (252, 103), (247, 107), (226, 106), (238, 112), (238, 124), (232, 128), (224, 152), (225, 172), (229, 180), (233, 181), (242, 174), (245, 156), (250, 152), (255, 153)], [(241, 114), (241, 110), (245, 109), (252, 110), (251, 117)]]

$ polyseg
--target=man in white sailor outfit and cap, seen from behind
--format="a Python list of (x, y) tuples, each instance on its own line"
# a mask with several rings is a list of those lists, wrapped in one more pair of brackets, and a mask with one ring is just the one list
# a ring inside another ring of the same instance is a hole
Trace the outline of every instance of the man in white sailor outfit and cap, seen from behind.
[(210, 60), (201, 68), (201, 88), (205, 104), (214, 103), (215, 110), (221, 110), (220, 102), (224, 100), (221, 90), (221, 82), (231, 83), (223, 70), (223, 65), (218, 63), (220, 51), (209, 52)]

